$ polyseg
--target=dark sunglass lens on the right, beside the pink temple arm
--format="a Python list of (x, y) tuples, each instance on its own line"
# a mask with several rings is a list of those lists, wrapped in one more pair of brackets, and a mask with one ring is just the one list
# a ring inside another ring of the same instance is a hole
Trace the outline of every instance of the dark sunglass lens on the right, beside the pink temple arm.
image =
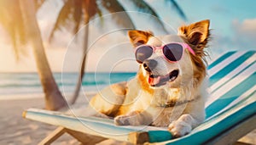
[(183, 56), (183, 47), (179, 44), (167, 44), (163, 48), (163, 53), (167, 59), (171, 61), (178, 61)]

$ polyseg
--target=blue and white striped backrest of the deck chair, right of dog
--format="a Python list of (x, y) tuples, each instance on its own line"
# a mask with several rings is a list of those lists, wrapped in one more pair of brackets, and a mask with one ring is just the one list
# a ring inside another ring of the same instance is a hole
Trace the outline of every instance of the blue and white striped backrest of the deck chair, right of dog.
[[(209, 66), (210, 93), (206, 103), (207, 117), (216, 114), (221, 109), (227, 109), (233, 101), (243, 98), (244, 92), (255, 87), (256, 82), (256, 53), (235, 52), (223, 61)], [(256, 98), (255, 98), (256, 99)]]

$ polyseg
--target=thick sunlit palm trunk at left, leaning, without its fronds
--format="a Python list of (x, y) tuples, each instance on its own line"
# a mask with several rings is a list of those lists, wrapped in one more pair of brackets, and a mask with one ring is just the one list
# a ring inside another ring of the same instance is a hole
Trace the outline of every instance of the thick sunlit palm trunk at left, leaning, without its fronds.
[(32, 50), (36, 60), (38, 75), (45, 95), (45, 109), (57, 110), (64, 107), (67, 103), (62, 97), (55, 79), (49, 68), (41, 33), (38, 27), (35, 3), (33, 0), (20, 0), (20, 8), (26, 20), (26, 32), (32, 42)]

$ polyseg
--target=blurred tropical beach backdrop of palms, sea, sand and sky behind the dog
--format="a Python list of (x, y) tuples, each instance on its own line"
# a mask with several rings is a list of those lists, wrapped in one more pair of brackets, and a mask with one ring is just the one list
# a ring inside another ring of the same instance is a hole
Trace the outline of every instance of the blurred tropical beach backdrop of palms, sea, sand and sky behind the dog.
[[(138, 64), (129, 30), (177, 34), (210, 20), (211, 62), (255, 50), (255, 0), (0, 0), (0, 144), (37, 144), (54, 126), (23, 120), (29, 108), (58, 110), (104, 86), (129, 81)], [(80, 97), (81, 98), (81, 97)], [(243, 142), (256, 143), (255, 131)], [(78, 144), (61, 137), (59, 144)], [(61, 143), (60, 143), (61, 142)]]

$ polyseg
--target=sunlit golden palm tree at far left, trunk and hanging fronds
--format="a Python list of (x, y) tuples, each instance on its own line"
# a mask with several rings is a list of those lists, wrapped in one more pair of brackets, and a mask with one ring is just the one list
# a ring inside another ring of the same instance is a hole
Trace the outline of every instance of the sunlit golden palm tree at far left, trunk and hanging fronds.
[(36, 6), (38, 5), (35, 2), (34, 0), (1, 0), (0, 23), (9, 33), (17, 57), (19, 56), (18, 47), (20, 45), (28, 43), (32, 45), (38, 75), (44, 89), (45, 109), (61, 109), (67, 103), (62, 97), (49, 68), (36, 17)]

